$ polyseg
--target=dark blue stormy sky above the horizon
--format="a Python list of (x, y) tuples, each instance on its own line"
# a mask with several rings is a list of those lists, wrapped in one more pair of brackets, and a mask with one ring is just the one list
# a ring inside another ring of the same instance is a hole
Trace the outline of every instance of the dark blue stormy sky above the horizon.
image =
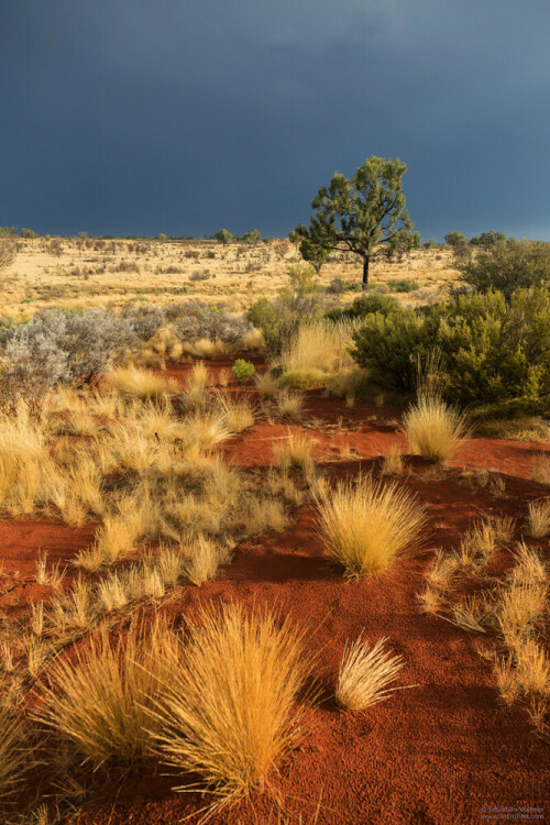
[(371, 154), (550, 240), (550, 0), (0, 0), (0, 226), (286, 235)]

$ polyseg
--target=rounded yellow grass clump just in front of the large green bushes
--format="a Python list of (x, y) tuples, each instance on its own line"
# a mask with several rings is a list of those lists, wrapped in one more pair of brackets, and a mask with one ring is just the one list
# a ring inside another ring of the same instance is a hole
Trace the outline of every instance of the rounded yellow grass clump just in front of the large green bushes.
[(464, 415), (437, 396), (420, 396), (404, 418), (410, 449), (429, 461), (443, 462), (466, 433)]

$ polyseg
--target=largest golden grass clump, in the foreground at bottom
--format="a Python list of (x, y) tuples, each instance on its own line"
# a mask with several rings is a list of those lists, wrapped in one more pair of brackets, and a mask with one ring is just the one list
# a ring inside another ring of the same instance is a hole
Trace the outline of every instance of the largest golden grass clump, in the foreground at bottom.
[(298, 735), (302, 657), (301, 634), (267, 610), (246, 615), (233, 604), (202, 614), (187, 644), (168, 651), (155, 716), (163, 759), (200, 777), (221, 804), (265, 787)]

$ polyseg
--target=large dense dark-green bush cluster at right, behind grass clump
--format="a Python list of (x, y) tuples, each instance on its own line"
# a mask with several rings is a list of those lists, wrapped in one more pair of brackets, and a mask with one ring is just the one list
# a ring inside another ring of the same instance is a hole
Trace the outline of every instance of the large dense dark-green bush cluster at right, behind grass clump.
[(365, 316), (352, 355), (381, 384), (415, 388), (418, 363), (441, 355), (446, 393), (461, 404), (550, 406), (550, 290), (461, 295), (418, 310)]

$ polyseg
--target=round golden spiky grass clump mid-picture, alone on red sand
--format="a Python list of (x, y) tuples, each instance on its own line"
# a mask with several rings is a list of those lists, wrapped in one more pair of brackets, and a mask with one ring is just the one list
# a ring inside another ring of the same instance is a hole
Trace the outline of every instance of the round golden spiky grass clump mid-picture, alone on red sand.
[(414, 550), (426, 522), (425, 509), (396, 482), (372, 477), (340, 483), (318, 501), (319, 532), (331, 558), (346, 579), (362, 579), (385, 570)]

